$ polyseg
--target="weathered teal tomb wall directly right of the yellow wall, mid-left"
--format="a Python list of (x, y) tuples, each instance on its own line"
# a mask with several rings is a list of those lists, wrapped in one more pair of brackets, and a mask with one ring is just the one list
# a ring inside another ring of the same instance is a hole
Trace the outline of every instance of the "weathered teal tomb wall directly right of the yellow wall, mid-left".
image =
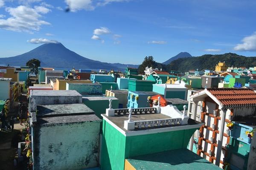
[(102, 85), (98, 83), (67, 83), (66, 90), (76, 90), (80, 94), (102, 94)]

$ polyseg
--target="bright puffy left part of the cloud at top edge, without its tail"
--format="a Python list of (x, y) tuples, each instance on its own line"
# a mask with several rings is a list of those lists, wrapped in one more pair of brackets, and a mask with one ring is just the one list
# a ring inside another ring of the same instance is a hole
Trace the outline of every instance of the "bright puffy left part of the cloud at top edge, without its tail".
[(76, 12), (78, 10), (94, 10), (94, 6), (92, 5), (92, 0), (65, 0), (70, 11)]

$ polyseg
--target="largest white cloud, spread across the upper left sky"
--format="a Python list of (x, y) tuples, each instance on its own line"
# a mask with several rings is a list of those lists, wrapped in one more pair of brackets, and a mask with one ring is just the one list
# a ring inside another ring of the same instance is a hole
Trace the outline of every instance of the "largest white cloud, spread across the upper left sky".
[(6, 30), (33, 33), (39, 31), (42, 25), (50, 25), (50, 23), (39, 19), (42, 16), (35, 8), (17, 6), (16, 8), (6, 8), (6, 12), (12, 16), (6, 20), (0, 19), (0, 28)]

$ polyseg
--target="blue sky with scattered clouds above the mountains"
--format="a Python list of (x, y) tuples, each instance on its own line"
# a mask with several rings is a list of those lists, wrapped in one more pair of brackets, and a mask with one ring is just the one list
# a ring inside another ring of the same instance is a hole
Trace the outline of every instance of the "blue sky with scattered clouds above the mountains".
[(125, 64), (184, 51), (256, 56), (255, 9), (255, 0), (0, 0), (0, 57), (58, 42)]

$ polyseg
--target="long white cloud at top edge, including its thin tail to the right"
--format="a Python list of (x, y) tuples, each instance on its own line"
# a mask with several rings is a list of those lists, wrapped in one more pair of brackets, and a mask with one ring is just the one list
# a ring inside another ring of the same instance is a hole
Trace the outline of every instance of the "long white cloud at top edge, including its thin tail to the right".
[(130, 0), (65, 0), (65, 3), (68, 5), (70, 11), (76, 12), (82, 9), (91, 11), (94, 10), (97, 6), (105, 6), (113, 2), (128, 2)]

